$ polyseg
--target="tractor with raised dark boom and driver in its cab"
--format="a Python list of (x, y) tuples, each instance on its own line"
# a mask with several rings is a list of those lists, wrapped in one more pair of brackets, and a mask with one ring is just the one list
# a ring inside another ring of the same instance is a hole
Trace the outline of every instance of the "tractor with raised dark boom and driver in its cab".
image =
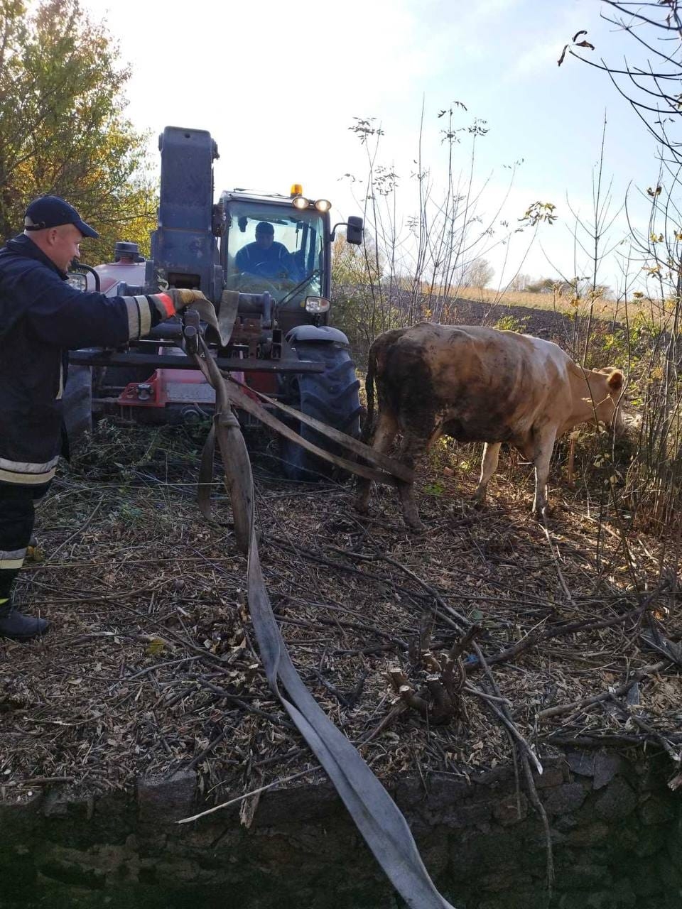
[[(330, 203), (306, 198), (300, 185), (292, 186), (290, 195), (229, 190), (215, 203), (218, 150), (206, 130), (166, 126), (159, 151), (158, 224), (150, 257), (139, 255), (135, 244), (119, 242), (114, 262), (76, 266), (71, 283), (107, 295), (152, 294), (167, 287), (201, 290), (219, 315), (225, 315), (221, 306), (234, 310), (226, 346), (210, 329), (206, 335), (221, 370), (235, 375), (246, 390), (357, 436), (359, 383), (346, 335), (329, 325), (329, 299), (336, 228), (345, 226), (346, 241), (359, 245), (362, 218), (332, 227)], [(115, 415), (127, 423), (190, 424), (210, 416), (214, 390), (180, 349), (181, 335), (179, 320), (171, 321), (125, 349), (72, 351), (65, 391), (70, 434), (90, 427), (93, 415)], [(247, 422), (243, 413), (242, 418)], [(306, 425), (291, 425), (304, 438), (329, 447)], [(314, 479), (330, 469), (285, 438), (280, 457), (291, 479)]]

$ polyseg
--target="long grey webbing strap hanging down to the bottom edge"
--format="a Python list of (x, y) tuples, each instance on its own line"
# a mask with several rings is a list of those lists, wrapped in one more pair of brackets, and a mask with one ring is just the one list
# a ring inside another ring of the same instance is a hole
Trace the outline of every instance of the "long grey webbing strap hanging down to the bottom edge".
[[(202, 345), (207, 355), (203, 339)], [(197, 361), (201, 359), (196, 356)], [(429, 877), (396, 803), (353, 744), (317, 704), (286, 651), (260, 566), (253, 474), (246, 443), (234, 415), (225, 414), (230, 409), (227, 383), (215, 363), (211, 364), (205, 364), (205, 375), (210, 376), (209, 381), (216, 388), (214, 432), (232, 495), (238, 544), (244, 541), (243, 522), (247, 522), (249, 612), (268, 683), (325, 768), (366, 844), (406, 904), (411, 909), (453, 909)]]

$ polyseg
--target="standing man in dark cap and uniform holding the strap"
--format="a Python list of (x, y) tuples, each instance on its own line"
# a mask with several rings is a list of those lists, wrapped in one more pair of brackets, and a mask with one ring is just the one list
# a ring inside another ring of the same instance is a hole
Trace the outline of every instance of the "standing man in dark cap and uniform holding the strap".
[(67, 351), (125, 345), (198, 299), (200, 291), (106, 297), (66, 283), (84, 237), (97, 237), (55, 195), (26, 209), (25, 230), (0, 249), (0, 636), (43, 634), (44, 618), (12, 600), (34, 524), (62, 451)]

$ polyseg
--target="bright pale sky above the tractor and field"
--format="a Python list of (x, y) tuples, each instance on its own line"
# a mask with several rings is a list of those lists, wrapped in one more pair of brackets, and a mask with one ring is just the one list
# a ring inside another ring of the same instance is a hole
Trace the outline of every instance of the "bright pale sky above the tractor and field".
[[(287, 193), (298, 182), (306, 195), (331, 199), (337, 220), (361, 214), (362, 193), (352, 195), (359, 184), (343, 175), (365, 176), (366, 156), (348, 126), (354, 117), (376, 117), (385, 132), (378, 161), (400, 175), (398, 218), (406, 219), (416, 209), (411, 174), (422, 105), (423, 161), (437, 187), (445, 147), (436, 115), (458, 101), (467, 110), (457, 125), (477, 117), (489, 130), (476, 151), (476, 185), (488, 181), (484, 219), (504, 196), (505, 165), (520, 159), (506, 218), (515, 222), (536, 200), (557, 205), (559, 221), (543, 226), (523, 265), (527, 234), (517, 236), (508, 277), (519, 265), (534, 276), (584, 270), (584, 256), (574, 265), (566, 196), (588, 215), (605, 115), (615, 207), (627, 185), (656, 181), (653, 143), (607, 75), (575, 59), (557, 67), (579, 29), (596, 45), (594, 58), (622, 63), (635, 53), (632, 38), (600, 20), (599, 0), (82, 4), (93, 20), (105, 19), (132, 66), (126, 113), (154, 135), (151, 159), (158, 161), (155, 136), (165, 125), (209, 130), (221, 155), (216, 192)], [(456, 169), (466, 170), (468, 145), (457, 155)], [(494, 283), (503, 253), (486, 256)], [(607, 265), (602, 279), (614, 284), (614, 272)]]

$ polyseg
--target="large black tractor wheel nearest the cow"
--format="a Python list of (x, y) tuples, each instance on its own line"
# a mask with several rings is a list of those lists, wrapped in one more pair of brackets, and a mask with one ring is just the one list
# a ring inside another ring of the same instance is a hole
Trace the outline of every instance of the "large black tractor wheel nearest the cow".
[[(299, 343), (296, 345), (299, 360), (315, 360), (326, 365), (324, 373), (302, 373), (283, 380), (285, 403), (296, 407), (301, 413), (314, 416), (328, 426), (333, 426), (346, 435), (357, 438), (360, 433), (360, 399), (357, 390), (360, 383), (356, 377), (356, 365), (346, 347), (328, 342)], [(286, 422), (298, 435), (333, 454), (347, 456), (324, 435), (316, 433), (310, 426), (297, 420)], [(279, 437), (279, 452), (282, 469), (290, 480), (307, 483), (337, 476), (340, 472), (305, 448)]]

